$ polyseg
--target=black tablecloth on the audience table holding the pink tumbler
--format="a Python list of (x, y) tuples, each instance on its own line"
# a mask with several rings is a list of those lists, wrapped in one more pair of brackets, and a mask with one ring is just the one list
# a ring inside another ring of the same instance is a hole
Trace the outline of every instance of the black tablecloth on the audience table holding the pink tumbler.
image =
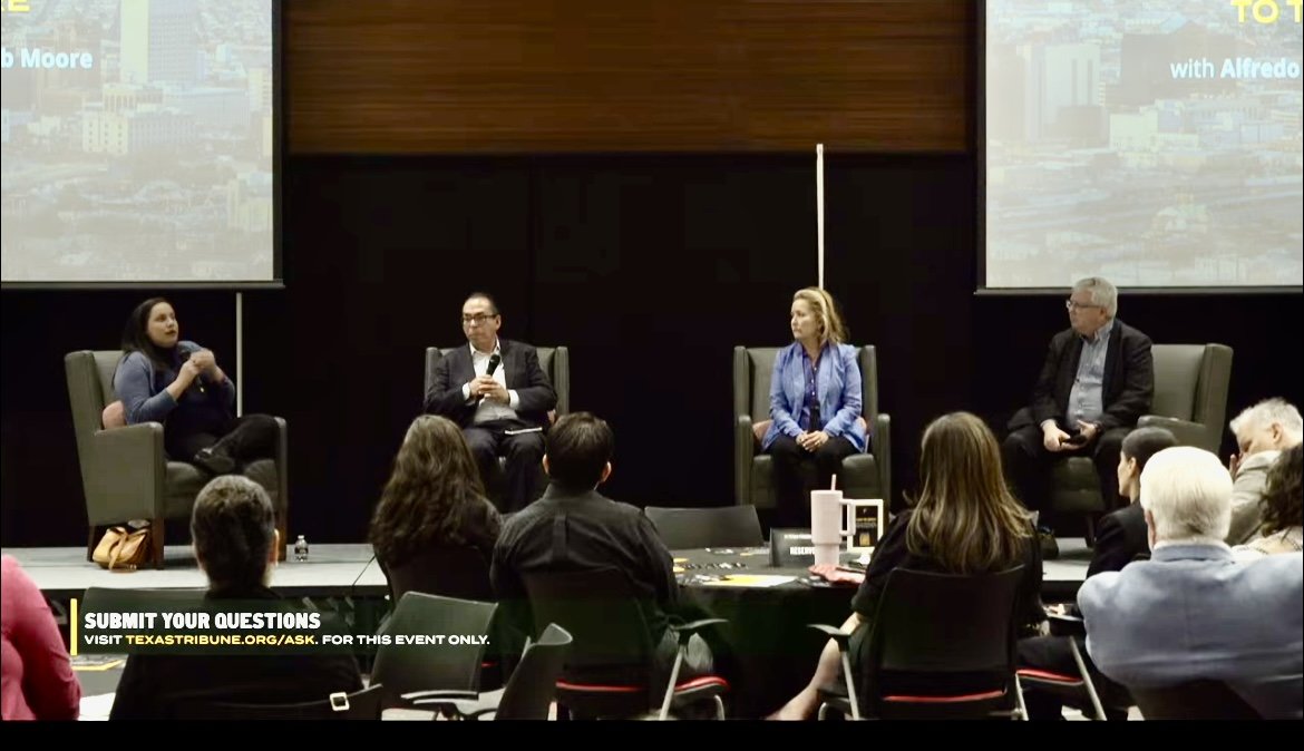
[[(841, 626), (852, 614), (855, 587), (805, 583), (805, 568), (771, 568), (769, 549), (675, 550), (683, 568), (681, 591), (687, 617), (725, 618), (707, 635), (716, 652), (716, 673), (729, 681), (729, 714), (755, 718), (778, 709), (810, 681), (828, 641), (807, 623)], [(725, 567), (728, 565), (728, 567)], [(786, 575), (777, 587), (716, 587), (709, 578)]]

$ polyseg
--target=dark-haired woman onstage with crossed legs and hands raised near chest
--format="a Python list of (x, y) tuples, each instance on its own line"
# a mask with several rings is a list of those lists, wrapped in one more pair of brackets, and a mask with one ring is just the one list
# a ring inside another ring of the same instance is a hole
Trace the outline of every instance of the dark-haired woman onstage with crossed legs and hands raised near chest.
[(123, 329), (123, 360), (113, 373), (128, 425), (162, 422), (168, 456), (213, 475), (271, 458), (276, 420), (235, 417), (236, 387), (210, 349), (181, 339), (172, 304), (151, 297)]

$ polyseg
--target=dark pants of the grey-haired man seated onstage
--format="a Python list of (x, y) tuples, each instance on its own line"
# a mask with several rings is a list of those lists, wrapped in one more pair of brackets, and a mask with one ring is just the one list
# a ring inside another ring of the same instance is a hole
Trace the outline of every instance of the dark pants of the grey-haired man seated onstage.
[(1020, 428), (1001, 445), (1005, 477), (1024, 506), (1030, 511), (1043, 511), (1048, 506), (1051, 465), (1069, 456), (1090, 456), (1101, 477), (1104, 510), (1112, 511), (1119, 507), (1119, 450), (1128, 432), (1128, 428), (1112, 428), (1081, 449), (1052, 452), (1046, 450), (1039, 426)]

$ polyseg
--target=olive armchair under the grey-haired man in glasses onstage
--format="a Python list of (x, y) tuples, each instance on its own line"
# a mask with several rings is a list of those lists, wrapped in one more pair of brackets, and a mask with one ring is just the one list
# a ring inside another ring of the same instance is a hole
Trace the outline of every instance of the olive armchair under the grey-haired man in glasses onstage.
[[(1218, 452), (1227, 419), (1231, 347), (1155, 344), (1154, 400), (1137, 428), (1167, 428), (1181, 446)], [(1050, 508), (1056, 516), (1085, 515), (1086, 542), (1095, 544), (1095, 519), (1104, 507), (1101, 477), (1090, 456), (1069, 456), (1051, 468)]]

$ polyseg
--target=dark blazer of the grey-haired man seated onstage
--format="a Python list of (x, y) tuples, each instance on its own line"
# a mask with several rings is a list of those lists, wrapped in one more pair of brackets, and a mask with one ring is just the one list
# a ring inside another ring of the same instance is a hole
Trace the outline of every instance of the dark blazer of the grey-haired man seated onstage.
[[(1051, 339), (1046, 362), (1033, 389), (1033, 402), (1009, 421), (1011, 430), (1041, 425), (1046, 420), (1060, 424), (1068, 412), (1068, 396), (1077, 378), (1077, 361), (1082, 356), (1082, 336), (1072, 329)], [(1115, 318), (1110, 347), (1104, 356), (1104, 413), (1101, 429), (1132, 428), (1150, 411), (1154, 398), (1154, 357), (1150, 338)], [(1072, 428), (1065, 425), (1065, 428)]]

